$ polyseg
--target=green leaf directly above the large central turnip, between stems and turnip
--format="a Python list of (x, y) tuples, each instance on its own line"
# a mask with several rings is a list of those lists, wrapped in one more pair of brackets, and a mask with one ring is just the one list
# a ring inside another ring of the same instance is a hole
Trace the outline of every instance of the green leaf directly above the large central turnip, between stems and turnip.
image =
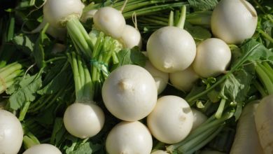
[(118, 61), (119, 63), (116, 65), (116, 67), (123, 66), (125, 64), (145, 66), (146, 56), (137, 47), (132, 49), (127, 48), (118, 52)]

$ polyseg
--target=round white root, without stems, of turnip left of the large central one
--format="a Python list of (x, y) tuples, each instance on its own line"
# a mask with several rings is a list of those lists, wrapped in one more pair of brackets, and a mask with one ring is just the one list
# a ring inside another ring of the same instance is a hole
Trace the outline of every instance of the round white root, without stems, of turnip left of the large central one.
[(71, 104), (64, 113), (64, 126), (75, 137), (94, 137), (104, 126), (104, 112), (90, 102)]

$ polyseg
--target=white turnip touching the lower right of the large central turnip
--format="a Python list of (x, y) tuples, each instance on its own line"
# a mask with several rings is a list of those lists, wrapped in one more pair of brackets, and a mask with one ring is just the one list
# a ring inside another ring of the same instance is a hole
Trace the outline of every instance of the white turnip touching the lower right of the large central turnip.
[(147, 117), (147, 124), (153, 137), (166, 144), (176, 144), (190, 133), (193, 112), (181, 97), (160, 97), (155, 109)]

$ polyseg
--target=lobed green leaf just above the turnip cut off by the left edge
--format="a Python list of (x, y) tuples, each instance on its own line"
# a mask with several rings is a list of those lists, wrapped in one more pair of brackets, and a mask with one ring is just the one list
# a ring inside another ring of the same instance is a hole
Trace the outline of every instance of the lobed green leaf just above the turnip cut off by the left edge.
[(36, 98), (36, 91), (42, 86), (41, 73), (36, 73), (34, 76), (25, 76), (19, 83), (19, 88), (10, 98), (10, 108), (18, 110), (24, 106), (25, 102), (32, 102)]

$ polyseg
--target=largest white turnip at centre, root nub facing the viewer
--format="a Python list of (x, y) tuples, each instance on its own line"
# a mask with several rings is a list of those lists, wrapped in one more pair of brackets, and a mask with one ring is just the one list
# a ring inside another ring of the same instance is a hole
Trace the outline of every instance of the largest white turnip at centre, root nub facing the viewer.
[(153, 76), (146, 69), (127, 64), (106, 78), (102, 98), (113, 116), (136, 121), (151, 113), (158, 99), (158, 90)]

